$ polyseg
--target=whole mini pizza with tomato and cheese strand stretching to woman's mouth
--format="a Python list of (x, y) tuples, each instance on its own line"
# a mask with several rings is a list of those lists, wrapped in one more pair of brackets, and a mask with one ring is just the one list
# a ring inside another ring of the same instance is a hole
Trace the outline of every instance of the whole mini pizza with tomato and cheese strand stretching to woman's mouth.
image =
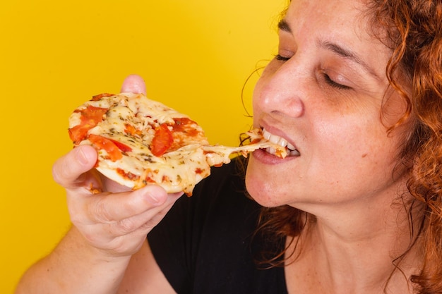
[(230, 155), (247, 156), (259, 148), (274, 148), (285, 157), (285, 147), (265, 140), (261, 130), (251, 130), (251, 144), (241, 147), (209, 145), (198, 123), (144, 94), (100, 94), (73, 111), (69, 137), (74, 147), (97, 150), (96, 169), (133, 190), (161, 185), (169, 193), (191, 196), (210, 166), (221, 166)]

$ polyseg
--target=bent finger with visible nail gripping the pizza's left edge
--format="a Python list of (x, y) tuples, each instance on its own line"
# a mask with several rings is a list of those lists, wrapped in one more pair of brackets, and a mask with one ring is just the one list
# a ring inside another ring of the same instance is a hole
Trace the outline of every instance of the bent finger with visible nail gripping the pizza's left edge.
[(78, 146), (59, 158), (52, 166), (52, 176), (64, 188), (78, 187), (80, 176), (97, 162), (97, 152), (91, 146)]

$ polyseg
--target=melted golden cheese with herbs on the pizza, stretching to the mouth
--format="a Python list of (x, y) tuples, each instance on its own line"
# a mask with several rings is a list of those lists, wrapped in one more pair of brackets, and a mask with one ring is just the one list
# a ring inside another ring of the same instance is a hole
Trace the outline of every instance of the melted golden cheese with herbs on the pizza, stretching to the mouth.
[[(184, 142), (185, 146), (162, 154), (161, 157), (155, 157), (150, 151), (155, 128), (162, 123), (173, 125), (174, 118), (188, 118), (188, 116), (160, 102), (150, 100), (143, 94), (121, 93), (104, 96), (98, 100), (85, 102), (77, 110), (86, 109), (88, 106), (108, 109), (103, 121), (90, 128), (88, 135), (107, 137), (131, 149), (123, 152), (123, 157), (116, 161), (109, 159), (106, 150), (100, 149), (97, 170), (117, 183), (133, 189), (156, 183), (167, 192), (183, 191), (191, 195), (196, 183), (210, 175), (210, 166), (227, 164), (232, 153), (240, 152), (246, 156), (247, 152), (258, 148), (275, 147), (277, 150), (281, 149), (281, 157), (286, 155), (283, 147), (263, 140), (261, 130), (248, 133), (252, 141), (261, 140), (255, 144), (243, 147), (210, 146), (202, 128), (192, 122), (188, 126), (191, 132), (174, 133), (174, 141)], [(74, 111), (69, 118), (69, 128), (80, 123), (80, 113)], [(138, 133), (127, 133), (128, 124), (138, 130)], [(86, 137), (80, 145), (93, 144)]]

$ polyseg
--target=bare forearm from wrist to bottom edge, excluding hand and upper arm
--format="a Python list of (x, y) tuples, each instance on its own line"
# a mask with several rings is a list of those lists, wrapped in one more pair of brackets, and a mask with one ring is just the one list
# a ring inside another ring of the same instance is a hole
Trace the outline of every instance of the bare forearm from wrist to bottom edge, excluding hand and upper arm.
[(55, 250), (23, 276), (16, 294), (117, 293), (130, 257), (104, 257), (73, 227)]

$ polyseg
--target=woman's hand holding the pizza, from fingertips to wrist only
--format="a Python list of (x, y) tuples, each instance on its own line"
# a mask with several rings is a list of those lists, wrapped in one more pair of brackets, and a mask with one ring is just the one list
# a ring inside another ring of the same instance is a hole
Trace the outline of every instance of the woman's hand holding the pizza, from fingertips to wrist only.
[[(136, 76), (123, 90), (145, 91)], [(106, 255), (132, 255), (182, 193), (167, 195), (157, 185), (131, 191), (97, 173), (96, 162), (93, 147), (78, 146), (56, 161), (54, 179), (66, 189), (73, 224), (89, 245)]]

